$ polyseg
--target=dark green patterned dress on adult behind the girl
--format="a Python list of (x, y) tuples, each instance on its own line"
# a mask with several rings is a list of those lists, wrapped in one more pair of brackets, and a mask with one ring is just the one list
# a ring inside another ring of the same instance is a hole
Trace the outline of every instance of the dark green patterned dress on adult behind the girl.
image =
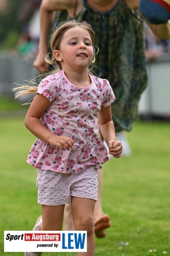
[(76, 19), (87, 21), (93, 27), (94, 41), (99, 48), (98, 71), (101, 78), (108, 79), (116, 97), (111, 104), (115, 131), (130, 131), (147, 85), (143, 23), (124, 0), (118, 0), (107, 12), (94, 11), (87, 0), (83, 0), (83, 4), (84, 8), (74, 18), (69, 17), (67, 11), (57, 11), (56, 24)]

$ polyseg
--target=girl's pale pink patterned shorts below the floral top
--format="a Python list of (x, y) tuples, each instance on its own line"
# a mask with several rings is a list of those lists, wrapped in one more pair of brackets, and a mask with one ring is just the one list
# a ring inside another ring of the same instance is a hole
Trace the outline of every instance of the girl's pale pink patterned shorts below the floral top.
[(97, 201), (97, 169), (92, 167), (76, 174), (38, 169), (38, 203), (42, 205), (69, 204), (72, 197)]

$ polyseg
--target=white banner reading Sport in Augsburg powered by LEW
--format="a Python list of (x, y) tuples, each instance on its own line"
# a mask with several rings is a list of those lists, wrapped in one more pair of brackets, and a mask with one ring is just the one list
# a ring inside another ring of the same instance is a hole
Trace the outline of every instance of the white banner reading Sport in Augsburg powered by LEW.
[(4, 252), (87, 252), (87, 231), (4, 231)]

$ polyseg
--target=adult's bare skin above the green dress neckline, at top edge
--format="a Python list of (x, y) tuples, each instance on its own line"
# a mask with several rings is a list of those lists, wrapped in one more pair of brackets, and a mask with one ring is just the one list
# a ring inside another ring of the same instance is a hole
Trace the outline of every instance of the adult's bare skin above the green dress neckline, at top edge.
[(118, 0), (87, 0), (91, 9), (99, 12), (107, 12), (114, 8)]

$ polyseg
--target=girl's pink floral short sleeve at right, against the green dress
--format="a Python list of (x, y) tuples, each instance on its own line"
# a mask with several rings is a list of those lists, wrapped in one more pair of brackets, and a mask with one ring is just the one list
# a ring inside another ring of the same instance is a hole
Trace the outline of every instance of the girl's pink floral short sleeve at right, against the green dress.
[(103, 79), (103, 102), (101, 108), (111, 105), (115, 101), (115, 95), (107, 79)]

